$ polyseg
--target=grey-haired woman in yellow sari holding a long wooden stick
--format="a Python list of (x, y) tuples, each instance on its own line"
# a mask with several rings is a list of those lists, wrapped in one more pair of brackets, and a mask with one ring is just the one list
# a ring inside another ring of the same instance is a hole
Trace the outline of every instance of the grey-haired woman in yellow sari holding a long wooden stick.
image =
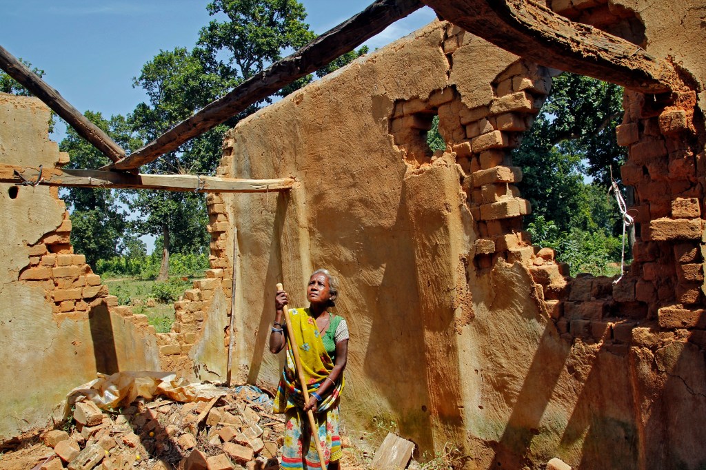
[[(337, 470), (342, 456), (338, 434), (338, 400), (343, 388), (343, 370), (348, 356), (346, 321), (333, 315), (328, 308), (335, 306), (338, 286), (327, 270), (317, 270), (309, 278), (306, 299), (309, 308), (293, 308), (292, 331), (299, 348), (309, 402), (304, 403), (294, 368), (294, 356), (287, 349), (287, 361), (275, 397), (275, 413), (284, 413), (285, 445), (282, 449), (283, 469), (320, 469), (316, 443), (306, 412), (313, 411), (318, 423), (318, 438), (326, 459), (326, 468)], [(277, 291), (275, 322), (270, 333), (270, 351), (285, 348), (286, 325), (283, 308), (289, 296)], [(303, 451), (304, 450), (304, 451)]]

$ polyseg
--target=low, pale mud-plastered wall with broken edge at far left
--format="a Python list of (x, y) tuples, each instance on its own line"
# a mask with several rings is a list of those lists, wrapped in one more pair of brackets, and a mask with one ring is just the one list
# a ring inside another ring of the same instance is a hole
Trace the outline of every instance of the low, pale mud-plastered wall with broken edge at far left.
[[(0, 161), (66, 164), (49, 140), (49, 109), (0, 94)], [(45, 426), (66, 393), (97, 372), (157, 370), (144, 315), (117, 305), (69, 243), (71, 222), (56, 188), (0, 184), (0, 440)]]

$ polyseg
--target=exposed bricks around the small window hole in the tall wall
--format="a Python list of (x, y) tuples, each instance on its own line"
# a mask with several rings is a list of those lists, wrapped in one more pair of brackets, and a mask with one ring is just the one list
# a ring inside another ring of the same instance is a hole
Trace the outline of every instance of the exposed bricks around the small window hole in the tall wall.
[[(463, 32), (448, 25), (443, 50), (449, 63), (462, 47)], [(464, 188), (477, 224), (474, 263), (489, 268), (498, 258), (531, 265), (534, 248), (522, 231), (522, 216), (530, 203), (520, 198), (515, 183), (522, 171), (513, 167), (509, 151), (520, 143), (551, 88), (549, 70), (515, 61), (493, 82), (495, 98), (486, 106), (469, 109), (453, 87), (432, 92), (428, 98), (400, 100), (390, 119), (395, 145), (405, 152), (408, 164), (431, 161), (426, 132), (435, 114), (439, 132), (465, 174)]]

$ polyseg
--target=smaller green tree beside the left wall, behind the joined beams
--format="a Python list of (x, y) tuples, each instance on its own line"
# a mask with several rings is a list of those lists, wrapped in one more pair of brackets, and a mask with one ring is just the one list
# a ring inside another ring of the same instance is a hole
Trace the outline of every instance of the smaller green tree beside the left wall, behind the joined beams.
[[(100, 112), (85, 112), (85, 116), (107, 132), (119, 145), (136, 145), (131, 139), (128, 123), (123, 116), (104, 119)], [(109, 163), (99, 150), (80, 137), (73, 128), (67, 128), (66, 138), (59, 149), (68, 152), (68, 168), (98, 168)], [(130, 224), (121, 209), (116, 192), (99, 188), (66, 188), (62, 196), (71, 209), (73, 246), (83, 253), (86, 262), (95, 270), (99, 259), (112, 258), (121, 253), (131, 239)]]

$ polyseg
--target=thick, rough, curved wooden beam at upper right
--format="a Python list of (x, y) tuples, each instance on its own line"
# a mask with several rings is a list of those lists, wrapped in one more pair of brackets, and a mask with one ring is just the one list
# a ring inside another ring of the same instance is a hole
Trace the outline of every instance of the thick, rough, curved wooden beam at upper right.
[(668, 92), (671, 64), (620, 37), (575, 23), (530, 0), (423, 0), (436, 13), (498, 47), (543, 66), (644, 93)]

